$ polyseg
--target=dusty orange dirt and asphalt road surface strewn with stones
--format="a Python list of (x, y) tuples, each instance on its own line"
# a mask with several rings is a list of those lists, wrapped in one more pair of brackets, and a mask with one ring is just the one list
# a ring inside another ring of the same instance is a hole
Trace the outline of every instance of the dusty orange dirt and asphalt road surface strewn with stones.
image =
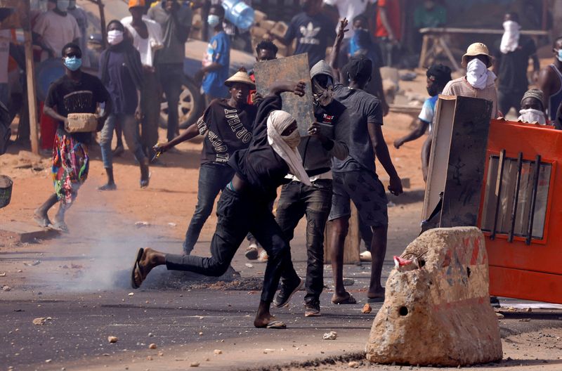
[[(418, 80), (412, 85), (415, 89), (423, 84), (421, 77)], [(412, 187), (405, 195), (391, 198), (395, 206), (389, 208), (384, 278), (393, 266), (392, 255), (400, 254), (419, 233), (423, 139), (400, 150), (392, 146), (394, 139), (406, 134), (411, 121), (412, 117), (397, 114), (385, 119), (384, 135), (393, 162), (400, 176), (410, 178)], [(163, 131), (160, 136), (164, 138)], [(345, 268), (346, 278), (355, 281), (348, 289), (360, 301), (358, 306), (329, 304), (332, 281), (326, 266), (322, 317), (303, 317), (303, 292), (299, 292), (292, 306), (275, 310), (277, 318), (289, 325), (280, 332), (251, 326), (265, 266), (255, 262), (247, 266), (241, 251), (233, 261), (241, 274), (236, 284), (199, 282), (199, 277), (159, 270), (143, 289), (129, 295), (129, 266), (136, 248), (181, 251), (196, 202), (200, 149), (201, 143), (193, 141), (163, 155), (159, 166), (152, 167), (150, 187), (145, 190), (138, 187), (138, 167), (126, 152), (115, 164), (118, 190), (100, 193), (96, 187), (103, 184), (104, 171), (100, 151), (93, 146), (89, 180), (68, 212), (70, 235), (30, 244), (0, 240), (0, 287), (11, 288), (0, 291), (0, 369), (185, 370), (199, 363), (204, 370), (343, 370), (351, 360), (370, 370), (411, 368), (361, 362), (379, 308), (374, 306), (369, 315), (360, 313), (369, 278), (365, 265)], [(0, 157), (0, 174), (15, 182), (12, 203), (0, 209), (0, 225), (30, 222), (33, 210), (53, 192), (48, 159), (25, 160), (18, 155), (20, 150), (25, 148), (13, 146)], [(386, 175), (380, 165), (377, 169), (379, 176)], [(137, 221), (148, 226), (135, 226)], [(212, 215), (204, 227), (197, 254), (208, 254), (215, 221)], [(301, 223), (292, 243), (299, 274), (304, 274), (306, 261), (303, 245)], [(562, 313), (504, 314), (500, 320), (504, 361), (485, 365), (484, 370), (562, 369)], [(51, 319), (32, 325), (38, 317)], [(338, 339), (320, 340), (331, 330), (338, 332)], [(108, 344), (110, 335), (119, 341)], [(148, 349), (150, 343), (158, 348)], [(215, 354), (215, 349), (222, 353)]]

